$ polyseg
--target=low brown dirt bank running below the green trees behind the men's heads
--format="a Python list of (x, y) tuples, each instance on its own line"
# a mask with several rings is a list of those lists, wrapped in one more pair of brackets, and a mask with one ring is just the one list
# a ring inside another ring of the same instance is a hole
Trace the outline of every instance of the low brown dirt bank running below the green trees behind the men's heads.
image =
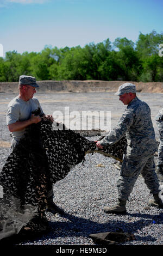
[[(38, 81), (40, 88), (38, 92), (116, 92), (122, 83), (127, 81)], [(142, 93), (163, 93), (162, 82), (132, 82), (136, 85), (137, 92)], [(17, 93), (17, 82), (1, 82), (0, 93)]]

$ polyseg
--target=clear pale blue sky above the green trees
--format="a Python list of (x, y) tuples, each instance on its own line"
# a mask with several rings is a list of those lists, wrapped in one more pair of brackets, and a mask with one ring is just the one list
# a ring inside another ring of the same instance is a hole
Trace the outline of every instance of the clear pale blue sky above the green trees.
[[(162, 0), (0, 0), (3, 52), (84, 47), (163, 32)], [(163, 43), (163, 42), (162, 42)]]

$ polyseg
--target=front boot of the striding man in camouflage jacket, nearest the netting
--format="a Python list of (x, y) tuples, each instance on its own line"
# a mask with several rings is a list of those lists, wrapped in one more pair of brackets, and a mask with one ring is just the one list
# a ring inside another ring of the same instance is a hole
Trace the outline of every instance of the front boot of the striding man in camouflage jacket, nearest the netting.
[(106, 214), (126, 214), (126, 200), (118, 198), (116, 205), (112, 207), (105, 206), (103, 210)]

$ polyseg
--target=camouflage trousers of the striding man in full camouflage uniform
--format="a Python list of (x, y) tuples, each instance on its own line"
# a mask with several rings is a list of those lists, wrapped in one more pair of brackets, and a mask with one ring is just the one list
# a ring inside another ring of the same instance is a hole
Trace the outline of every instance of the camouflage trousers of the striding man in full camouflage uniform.
[(145, 184), (152, 194), (158, 194), (160, 190), (159, 181), (155, 173), (154, 155), (146, 157), (124, 157), (120, 176), (117, 179), (118, 198), (127, 200), (139, 175), (142, 175)]

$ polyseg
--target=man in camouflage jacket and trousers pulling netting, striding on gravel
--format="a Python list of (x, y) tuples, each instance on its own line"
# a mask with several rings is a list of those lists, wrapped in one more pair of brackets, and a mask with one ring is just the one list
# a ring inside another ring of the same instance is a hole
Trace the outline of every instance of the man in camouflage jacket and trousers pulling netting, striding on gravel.
[(153, 199), (148, 202), (149, 205), (162, 208), (163, 204), (159, 198), (160, 186), (155, 173), (154, 153), (157, 145), (151, 109), (147, 103), (137, 98), (134, 84), (122, 84), (115, 94), (120, 96), (124, 105), (128, 106), (114, 129), (96, 145), (98, 148), (103, 148), (105, 145), (115, 144), (125, 135), (128, 145), (117, 180), (118, 202), (115, 206), (106, 206), (104, 212), (108, 214), (126, 212), (126, 201), (140, 173), (153, 194)]

